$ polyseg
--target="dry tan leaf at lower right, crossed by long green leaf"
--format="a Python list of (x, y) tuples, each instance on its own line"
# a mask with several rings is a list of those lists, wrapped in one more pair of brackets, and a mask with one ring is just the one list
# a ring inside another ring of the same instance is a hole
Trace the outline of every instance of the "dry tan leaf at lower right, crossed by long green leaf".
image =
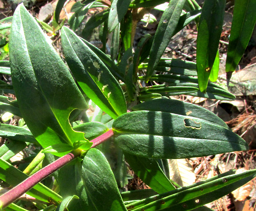
[[(240, 169), (237, 169), (236, 173), (242, 173), (242, 172), (245, 172), (246, 169), (245, 168), (240, 168)], [(234, 190), (232, 192), (235, 200), (237, 201), (243, 201), (246, 199), (247, 196), (250, 195), (251, 191), (252, 191), (252, 185), (253, 185), (253, 182), (252, 181), (249, 181), (248, 183), (244, 184), (242, 187), (240, 188), (237, 188), (236, 190)]]

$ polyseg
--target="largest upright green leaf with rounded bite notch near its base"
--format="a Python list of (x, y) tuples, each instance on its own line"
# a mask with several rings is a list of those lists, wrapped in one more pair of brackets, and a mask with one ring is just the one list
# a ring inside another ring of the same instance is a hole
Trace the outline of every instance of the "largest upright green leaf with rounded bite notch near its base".
[[(37, 22), (20, 4), (12, 20), (10, 62), (20, 112), (44, 147), (86, 140), (69, 124), (74, 109), (87, 104), (64, 62), (48, 43)], [(89, 149), (88, 141), (84, 149)], [(65, 153), (57, 153), (62, 156)]]

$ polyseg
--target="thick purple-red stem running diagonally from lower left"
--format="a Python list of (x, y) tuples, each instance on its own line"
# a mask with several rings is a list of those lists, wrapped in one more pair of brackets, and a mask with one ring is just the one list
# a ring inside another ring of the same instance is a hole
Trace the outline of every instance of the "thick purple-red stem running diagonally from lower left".
[[(108, 138), (113, 136), (113, 130), (108, 130), (106, 133), (94, 138), (91, 142), (93, 142), (92, 148), (98, 146), (102, 142), (106, 141)], [(57, 171), (64, 165), (68, 164), (70, 161), (74, 160), (79, 154), (68, 153), (63, 157), (60, 157), (53, 163), (50, 163), (46, 167), (40, 169), (38, 172), (34, 173), (27, 179), (25, 179), (22, 183), (16, 185), (10, 191), (4, 193), (0, 196), (0, 210), (4, 207), (7, 207), (9, 204), (14, 202), (20, 196), (25, 194), (31, 188), (33, 188), (37, 183), (51, 175), (53, 172)]]

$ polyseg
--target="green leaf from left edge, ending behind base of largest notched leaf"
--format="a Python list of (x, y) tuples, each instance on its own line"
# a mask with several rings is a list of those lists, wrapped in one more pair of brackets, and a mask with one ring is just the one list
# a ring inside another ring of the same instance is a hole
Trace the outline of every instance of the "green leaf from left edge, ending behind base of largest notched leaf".
[(38, 144), (29, 130), (14, 125), (0, 124), (0, 137)]

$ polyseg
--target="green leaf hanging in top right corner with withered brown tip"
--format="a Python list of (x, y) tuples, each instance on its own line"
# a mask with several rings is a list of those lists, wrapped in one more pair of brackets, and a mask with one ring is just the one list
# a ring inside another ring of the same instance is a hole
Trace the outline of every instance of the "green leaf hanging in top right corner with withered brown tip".
[(236, 67), (251, 38), (252, 31), (256, 23), (255, 10), (255, 0), (235, 1), (226, 59), (226, 72), (230, 72), (227, 74), (227, 82), (229, 82), (232, 72), (236, 70)]

